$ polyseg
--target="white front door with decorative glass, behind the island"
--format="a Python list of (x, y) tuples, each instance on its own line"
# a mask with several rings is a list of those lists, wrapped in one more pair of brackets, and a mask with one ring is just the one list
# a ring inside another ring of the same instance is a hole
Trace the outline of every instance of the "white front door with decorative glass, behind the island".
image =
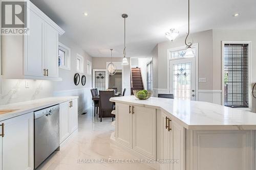
[(174, 94), (174, 98), (196, 100), (195, 57), (169, 62), (169, 92)]

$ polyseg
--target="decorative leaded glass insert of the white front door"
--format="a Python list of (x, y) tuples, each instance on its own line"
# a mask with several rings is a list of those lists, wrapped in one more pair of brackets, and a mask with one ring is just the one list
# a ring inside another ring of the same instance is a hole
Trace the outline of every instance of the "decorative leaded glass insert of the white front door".
[(173, 92), (175, 98), (190, 100), (191, 63), (173, 65)]

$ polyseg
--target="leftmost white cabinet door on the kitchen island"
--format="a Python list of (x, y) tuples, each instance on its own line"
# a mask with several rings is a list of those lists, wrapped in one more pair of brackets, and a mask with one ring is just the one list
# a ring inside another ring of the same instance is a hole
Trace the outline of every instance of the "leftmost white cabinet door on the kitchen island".
[(116, 104), (116, 140), (132, 148), (132, 106)]

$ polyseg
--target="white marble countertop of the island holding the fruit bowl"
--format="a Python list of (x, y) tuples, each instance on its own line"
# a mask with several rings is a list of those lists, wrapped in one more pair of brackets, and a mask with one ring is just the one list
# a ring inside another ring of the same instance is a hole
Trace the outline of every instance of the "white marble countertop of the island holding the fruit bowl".
[(111, 102), (160, 109), (191, 130), (256, 130), (256, 113), (199, 101), (121, 96)]

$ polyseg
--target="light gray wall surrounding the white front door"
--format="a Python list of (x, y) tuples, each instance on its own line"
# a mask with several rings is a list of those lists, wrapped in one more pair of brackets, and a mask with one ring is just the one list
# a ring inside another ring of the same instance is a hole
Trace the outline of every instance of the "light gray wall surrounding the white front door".
[[(199, 83), (199, 89), (210, 90), (212, 89), (212, 30), (191, 34), (194, 43), (198, 43), (198, 60), (199, 60), (199, 78), (206, 78), (206, 83)], [(169, 48), (184, 46), (185, 37), (178, 37), (175, 41), (165, 41), (158, 44), (158, 88), (167, 89), (167, 50)], [(154, 51), (156, 53), (156, 50)], [(153, 52), (153, 53), (154, 53)], [(154, 55), (155, 56), (155, 55)], [(153, 57), (154, 59), (156, 57)], [(156, 77), (156, 73), (154, 74)], [(156, 82), (154, 83), (154, 87)]]

